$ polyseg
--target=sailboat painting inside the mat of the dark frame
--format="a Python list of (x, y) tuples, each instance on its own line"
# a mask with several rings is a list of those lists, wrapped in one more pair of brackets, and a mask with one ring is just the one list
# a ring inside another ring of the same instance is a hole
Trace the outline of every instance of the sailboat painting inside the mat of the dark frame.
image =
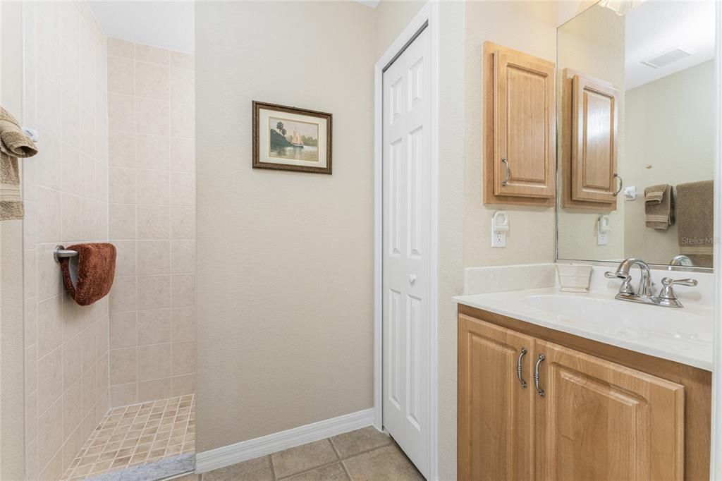
[(269, 117), (269, 156), (318, 162), (318, 123)]

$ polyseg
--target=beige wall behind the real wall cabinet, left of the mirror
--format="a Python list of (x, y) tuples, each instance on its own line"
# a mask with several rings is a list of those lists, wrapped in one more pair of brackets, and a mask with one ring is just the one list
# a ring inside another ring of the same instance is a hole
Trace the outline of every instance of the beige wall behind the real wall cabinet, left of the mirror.
[[(557, 4), (552, 1), (478, 1), (466, 5), (464, 131), (464, 267), (551, 262), (554, 209), (487, 206), (483, 202), (482, 45), (485, 40), (556, 60)], [(491, 220), (508, 212), (506, 248), (491, 247)]]

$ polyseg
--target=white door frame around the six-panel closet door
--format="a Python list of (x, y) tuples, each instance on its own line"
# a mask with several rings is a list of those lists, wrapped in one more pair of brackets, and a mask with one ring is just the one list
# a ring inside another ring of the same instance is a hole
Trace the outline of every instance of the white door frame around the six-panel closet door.
[(427, 25), (431, 41), (430, 269), (429, 269), (429, 473), (438, 480), (438, 3), (425, 4), (374, 66), (373, 160), (373, 425), (383, 429), (383, 70)]

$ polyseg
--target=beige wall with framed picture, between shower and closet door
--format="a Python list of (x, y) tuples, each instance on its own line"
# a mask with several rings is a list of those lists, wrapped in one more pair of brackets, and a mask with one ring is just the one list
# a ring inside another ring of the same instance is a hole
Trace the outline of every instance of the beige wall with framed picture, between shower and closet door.
[[(373, 405), (373, 22), (196, 5), (199, 452)], [(253, 170), (251, 100), (333, 113), (333, 175)]]

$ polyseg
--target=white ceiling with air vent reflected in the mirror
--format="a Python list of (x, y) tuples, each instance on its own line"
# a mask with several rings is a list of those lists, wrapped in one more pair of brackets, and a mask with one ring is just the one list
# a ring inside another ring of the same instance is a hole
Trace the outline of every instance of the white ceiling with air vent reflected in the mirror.
[[(648, 0), (625, 18), (625, 89), (630, 90), (714, 58), (715, 1)], [(640, 64), (674, 47), (694, 54), (661, 69)]]

